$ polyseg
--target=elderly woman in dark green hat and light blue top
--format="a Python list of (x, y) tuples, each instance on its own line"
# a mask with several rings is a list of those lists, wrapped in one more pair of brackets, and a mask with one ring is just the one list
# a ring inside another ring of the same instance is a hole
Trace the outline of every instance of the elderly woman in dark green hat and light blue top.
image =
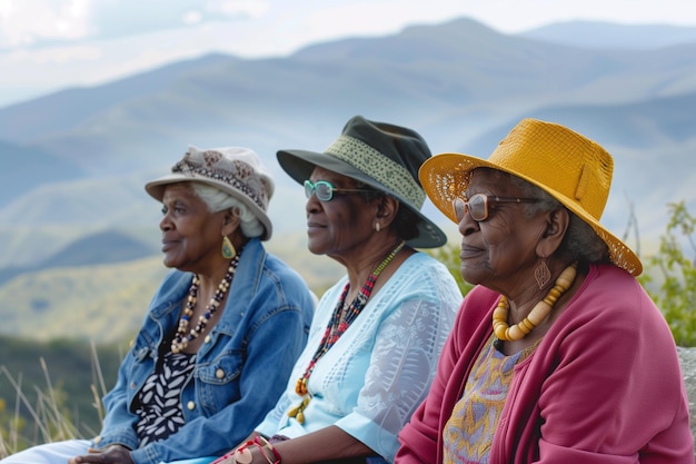
[(361, 117), (325, 152), (278, 152), (305, 185), (309, 250), (347, 275), (321, 297), (275, 409), (221, 461), (394, 460), (461, 300), (445, 266), (414, 249), (445, 243), (420, 213), (417, 172), (429, 156), (417, 132)]

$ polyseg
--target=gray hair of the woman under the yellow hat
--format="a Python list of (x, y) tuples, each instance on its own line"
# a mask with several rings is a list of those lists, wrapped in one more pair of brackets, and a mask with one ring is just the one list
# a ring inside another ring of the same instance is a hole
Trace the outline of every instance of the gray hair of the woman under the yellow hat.
[(568, 229), (558, 250), (563, 257), (570, 261), (610, 263), (609, 247), (589, 224), (585, 223), (540, 187), (517, 176), (501, 174), (506, 175), (509, 178), (509, 182), (519, 189), (520, 196), (541, 200), (525, 204), (524, 211), (526, 217), (531, 217), (538, 213), (549, 213), (559, 208), (568, 211), (570, 217)]

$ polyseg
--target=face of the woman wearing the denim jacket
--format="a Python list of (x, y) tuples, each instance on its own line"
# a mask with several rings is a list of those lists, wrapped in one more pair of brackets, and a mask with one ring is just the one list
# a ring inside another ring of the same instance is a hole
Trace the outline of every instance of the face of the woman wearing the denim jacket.
[(209, 213), (187, 182), (171, 184), (162, 198), (165, 266), (205, 273), (220, 255), (223, 211)]

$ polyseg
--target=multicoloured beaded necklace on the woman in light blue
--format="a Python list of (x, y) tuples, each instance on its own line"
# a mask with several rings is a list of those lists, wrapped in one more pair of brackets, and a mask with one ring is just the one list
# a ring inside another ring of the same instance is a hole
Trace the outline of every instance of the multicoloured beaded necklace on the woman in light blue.
[[(311, 361), (307, 365), (305, 369), (305, 374), (300, 378), (297, 379), (295, 384), (295, 393), (298, 395), (305, 396), (307, 395), (307, 382), (309, 382), (309, 376), (315, 369), (317, 362), (324, 356), (330, 348), (338, 342), (341, 335), (348, 329), (350, 324), (360, 315), (362, 308), (367, 305), (367, 300), (372, 293), (372, 288), (375, 288), (375, 282), (377, 282), (377, 276), (387, 267), (391, 259), (404, 248), (406, 241), (399, 243), (394, 250), (375, 268), (372, 274), (367, 278), (367, 282), (355, 297), (355, 299), (350, 303), (350, 306), (346, 308), (346, 297), (348, 296), (348, 290), (350, 289), (350, 283), (346, 283), (344, 287), (344, 292), (338, 299), (338, 304), (334, 309), (334, 314), (331, 315), (331, 319), (324, 332), (324, 337), (321, 338), (321, 343), (319, 343), (319, 347), (317, 352), (311, 357)], [(310, 396), (305, 396), (302, 403), (299, 406), (290, 408), (288, 411), (288, 415), (290, 417), (295, 417), (297, 422), (302, 424), (305, 422), (304, 411), (309, 404), (311, 399)]]

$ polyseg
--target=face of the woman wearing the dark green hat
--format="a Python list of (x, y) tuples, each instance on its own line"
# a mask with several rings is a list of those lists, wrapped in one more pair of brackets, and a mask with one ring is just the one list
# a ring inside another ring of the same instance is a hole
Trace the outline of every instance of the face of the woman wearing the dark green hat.
[[(320, 167), (315, 168), (309, 180), (327, 180), (336, 188), (357, 188), (354, 179)], [(335, 192), (329, 201), (320, 201), (312, 195), (306, 205), (309, 250), (339, 261), (342, 261), (341, 257), (359, 251), (374, 234), (374, 205), (375, 201), (366, 203), (359, 194)]]

